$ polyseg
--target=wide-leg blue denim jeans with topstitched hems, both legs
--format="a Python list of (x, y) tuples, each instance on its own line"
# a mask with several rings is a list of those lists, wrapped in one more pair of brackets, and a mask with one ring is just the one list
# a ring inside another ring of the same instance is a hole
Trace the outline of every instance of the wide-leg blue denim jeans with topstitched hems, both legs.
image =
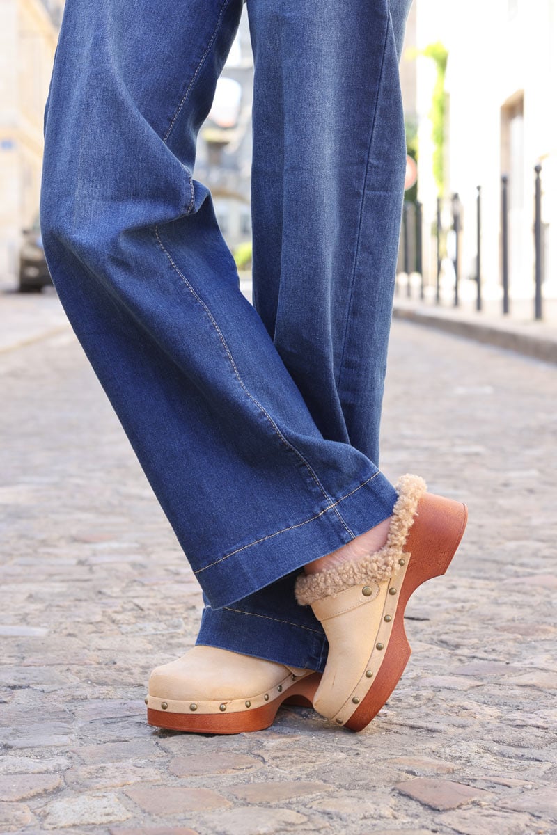
[(251, 305), (192, 174), (242, 0), (65, 5), (44, 113), (45, 254), (200, 583), (200, 644), (321, 671), (327, 641), (296, 604), (296, 574), (397, 498), (378, 434), (408, 6), (247, 0)]

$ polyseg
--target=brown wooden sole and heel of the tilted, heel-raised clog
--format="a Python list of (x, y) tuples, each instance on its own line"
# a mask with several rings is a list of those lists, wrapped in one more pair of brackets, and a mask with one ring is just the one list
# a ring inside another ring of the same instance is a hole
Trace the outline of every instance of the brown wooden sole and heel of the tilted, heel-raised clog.
[(345, 722), (351, 731), (362, 731), (391, 695), (412, 653), (404, 630), (404, 610), (408, 598), (428, 579), (444, 574), (463, 538), (468, 521), (465, 504), (425, 493), (418, 503), (416, 517), (404, 550), (411, 554), (382, 665), (367, 696)]

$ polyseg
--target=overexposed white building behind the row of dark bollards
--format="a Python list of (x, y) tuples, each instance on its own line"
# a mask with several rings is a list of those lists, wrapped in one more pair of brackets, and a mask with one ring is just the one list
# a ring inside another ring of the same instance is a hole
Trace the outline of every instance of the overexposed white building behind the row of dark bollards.
[[(414, 0), (412, 46), (415, 88), (409, 108), (418, 123), (418, 200), (426, 228), (433, 227), (438, 185), (433, 178), (429, 114), (435, 67), (419, 56), (428, 44), (448, 49), (445, 76), (446, 135), (444, 225), (450, 198), (462, 203), (461, 275), (475, 273), (476, 198), (482, 195), (482, 281), (486, 297), (501, 295), (501, 178), (509, 182), (509, 275), (514, 298), (534, 292), (534, 166), (543, 188), (544, 295), (557, 296), (557, 3), (554, 0)], [(407, 92), (408, 97), (408, 92)], [(451, 241), (449, 240), (449, 251)], [(424, 267), (436, 268), (433, 240), (424, 235)], [(463, 289), (466, 290), (466, 282)], [(468, 282), (469, 293), (475, 292)]]

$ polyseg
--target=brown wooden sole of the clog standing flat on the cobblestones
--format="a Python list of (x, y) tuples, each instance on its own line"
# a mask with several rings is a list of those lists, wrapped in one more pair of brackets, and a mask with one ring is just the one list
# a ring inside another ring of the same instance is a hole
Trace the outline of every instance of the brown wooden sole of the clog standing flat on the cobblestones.
[(148, 707), (147, 723), (171, 731), (188, 733), (234, 734), (263, 731), (275, 721), (276, 712), (283, 704), (312, 707), (313, 696), (320, 681), (321, 673), (313, 673), (295, 681), (281, 693), (281, 696), (268, 704), (235, 713), (169, 713)]

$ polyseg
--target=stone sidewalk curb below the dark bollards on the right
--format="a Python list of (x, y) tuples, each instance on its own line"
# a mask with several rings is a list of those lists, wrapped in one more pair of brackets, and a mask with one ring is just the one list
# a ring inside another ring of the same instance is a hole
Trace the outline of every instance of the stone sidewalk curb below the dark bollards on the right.
[(557, 364), (557, 341), (550, 337), (533, 336), (529, 333), (481, 321), (441, 316), (433, 312), (428, 313), (427, 311), (397, 306), (396, 303), (392, 310), (392, 316), (395, 319), (435, 327), (439, 331), (447, 331), (459, 337), (506, 348), (524, 354), (526, 357), (534, 357), (534, 359)]

